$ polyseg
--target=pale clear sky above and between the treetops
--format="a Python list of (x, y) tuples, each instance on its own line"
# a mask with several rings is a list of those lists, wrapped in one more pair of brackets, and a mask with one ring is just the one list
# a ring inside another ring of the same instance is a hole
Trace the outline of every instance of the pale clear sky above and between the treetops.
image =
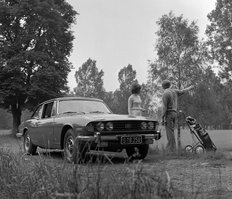
[(118, 73), (131, 64), (140, 84), (146, 83), (148, 60), (154, 60), (156, 22), (170, 11), (175, 16), (196, 21), (199, 38), (205, 37), (207, 14), (216, 0), (67, 0), (79, 15), (72, 26), (73, 50), (69, 61), (73, 69), (68, 86), (76, 87), (75, 72), (88, 58), (104, 71), (106, 91), (119, 88)]

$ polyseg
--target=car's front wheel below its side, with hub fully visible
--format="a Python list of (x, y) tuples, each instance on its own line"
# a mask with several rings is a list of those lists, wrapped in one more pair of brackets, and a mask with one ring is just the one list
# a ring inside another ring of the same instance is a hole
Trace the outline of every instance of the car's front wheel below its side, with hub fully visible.
[(85, 161), (87, 147), (75, 139), (72, 129), (68, 129), (64, 136), (64, 159), (69, 163), (79, 164)]

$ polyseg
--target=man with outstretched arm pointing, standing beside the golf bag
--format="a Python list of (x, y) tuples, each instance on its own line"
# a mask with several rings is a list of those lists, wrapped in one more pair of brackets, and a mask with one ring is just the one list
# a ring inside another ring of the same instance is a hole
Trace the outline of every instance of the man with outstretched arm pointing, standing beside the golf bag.
[(177, 100), (178, 96), (190, 91), (194, 86), (190, 86), (183, 90), (171, 88), (171, 82), (164, 80), (162, 82), (164, 93), (162, 96), (163, 101), (163, 112), (162, 112), (162, 124), (165, 125), (167, 135), (167, 152), (175, 152), (176, 140), (175, 140), (175, 122), (177, 118)]

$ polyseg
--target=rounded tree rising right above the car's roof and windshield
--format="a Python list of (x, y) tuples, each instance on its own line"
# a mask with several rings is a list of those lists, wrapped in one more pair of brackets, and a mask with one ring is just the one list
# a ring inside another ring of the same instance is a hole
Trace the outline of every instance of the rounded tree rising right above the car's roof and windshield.
[(89, 58), (75, 73), (77, 82), (77, 87), (74, 89), (75, 95), (103, 99), (105, 92), (103, 76), (104, 72), (98, 71), (96, 61)]

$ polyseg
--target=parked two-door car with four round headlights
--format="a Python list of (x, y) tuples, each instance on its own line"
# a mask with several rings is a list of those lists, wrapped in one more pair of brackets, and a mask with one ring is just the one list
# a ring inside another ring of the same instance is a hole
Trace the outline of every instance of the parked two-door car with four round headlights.
[(58, 149), (67, 162), (80, 163), (91, 150), (125, 149), (128, 157), (144, 159), (149, 145), (160, 139), (157, 128), (151, 118), (113, 114), (101, 99), (60, 97), (39, 104), (17, 136), (27, 154), (36, 154), (37, 147)]

